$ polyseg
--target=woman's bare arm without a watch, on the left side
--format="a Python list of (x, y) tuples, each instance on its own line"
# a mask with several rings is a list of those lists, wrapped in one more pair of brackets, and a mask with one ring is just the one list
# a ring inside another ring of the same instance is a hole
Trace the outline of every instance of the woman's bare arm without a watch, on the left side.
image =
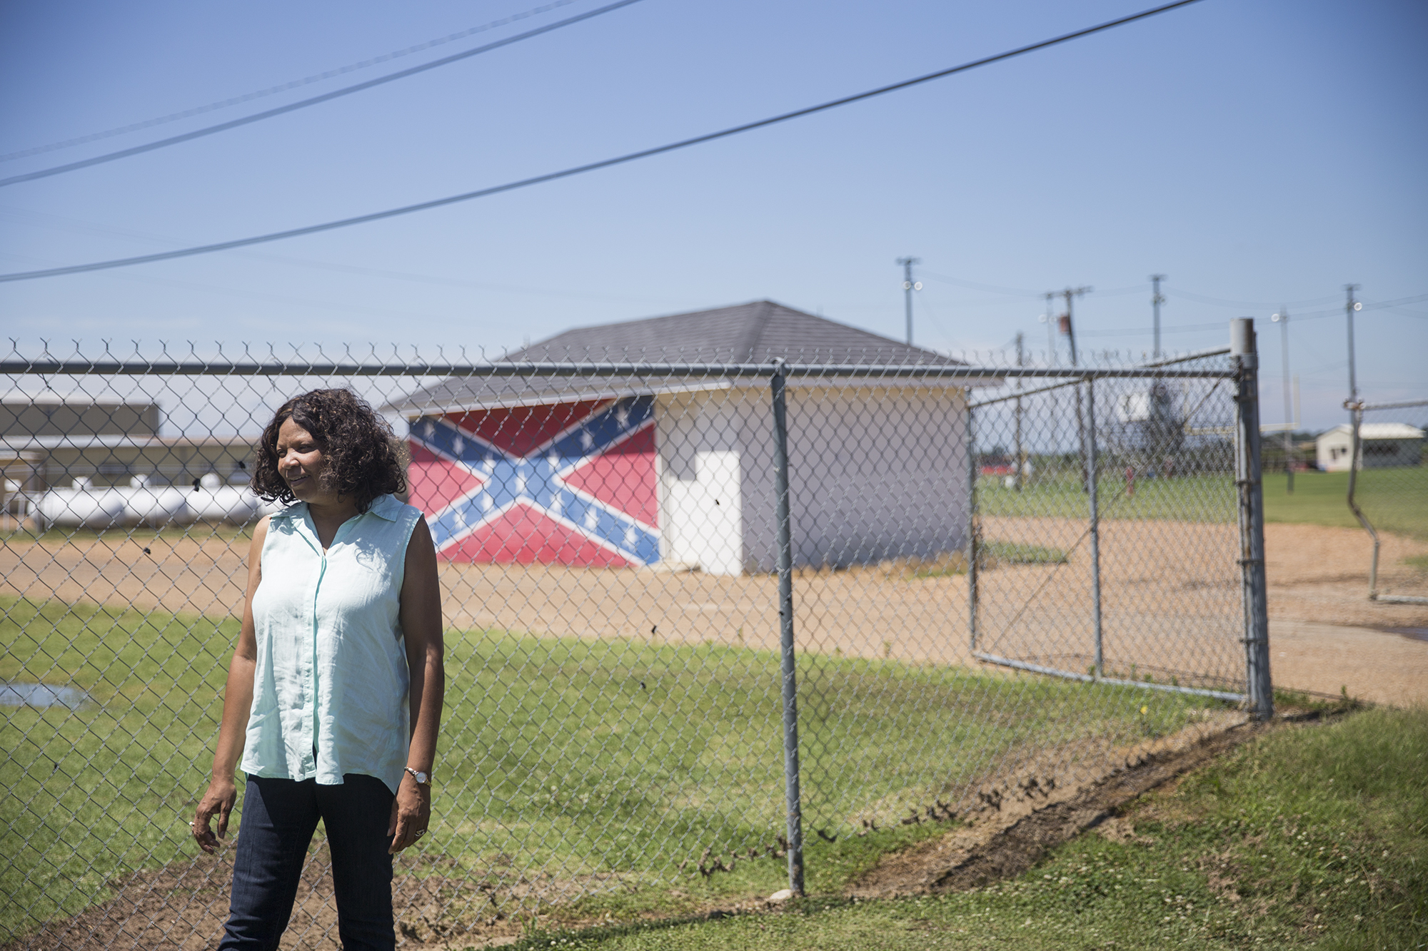
[[(213, 774), (208, 791), (198, 801), (193, 817), (193, 837), (206, 852), (218, 850), (218, 840), (228, 834), (228, 815), (238, 801), (238, 790), (233, 773), (243, 755), (244, 731), (248, 713), (253, 708), (253, 671), (258, 660), (257, 633), (253, 625), (253, 594), (263, 580), (263, 541), (267, 538), (268, 520), (264, 517), (253, 530), (248, 545), (248, 587), (243, 595), (243, 625), (238, 628), (238, 643), (228, 663), (228, 681), (223, 687), (223, 721), (218, 725), (218, 745), (213, 753)], [(218, 815), (218, 834), (214, 837), (210, 821)]]

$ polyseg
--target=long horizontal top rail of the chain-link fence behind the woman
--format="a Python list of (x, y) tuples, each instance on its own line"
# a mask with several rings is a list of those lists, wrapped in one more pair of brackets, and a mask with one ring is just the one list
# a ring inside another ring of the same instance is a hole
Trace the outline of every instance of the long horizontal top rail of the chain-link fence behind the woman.
[(1161, 367), (972, 367), (967, 364), (818, 363), (331, 363), (227, 360), (0, 360), (4, 376), (173, 376), (173, 377), (791, 377), (1055, 380), (1230, 378), (1234, 370)]

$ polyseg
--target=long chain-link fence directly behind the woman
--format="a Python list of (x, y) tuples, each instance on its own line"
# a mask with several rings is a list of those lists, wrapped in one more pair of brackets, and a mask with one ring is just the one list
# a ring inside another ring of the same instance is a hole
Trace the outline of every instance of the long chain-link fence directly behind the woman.
[[(3, 934), (218, 934), (231, 871), (187, 821), (253, 446), (296, 393), (380, 407), (438, 545), (434, 818), (396, 897), (404, 940), (457, 941), (737, 875), (833, 887), (850, 841), (1267, 713), (1252, 361), (1225, 353), (11, 353)], [(336, 944), (326, 862), (284, 947)]]

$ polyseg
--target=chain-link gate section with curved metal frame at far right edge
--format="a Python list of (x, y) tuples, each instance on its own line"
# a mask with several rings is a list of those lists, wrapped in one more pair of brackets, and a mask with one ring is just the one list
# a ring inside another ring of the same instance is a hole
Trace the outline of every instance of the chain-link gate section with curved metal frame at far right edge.
[[(1428, 540), (1428, 466), (1424, 430), (1428, 400), (1349, 404), (1351, 423), (1321, 437), (1321, 456), (1354, 460), (1348, 507), (1374, 540), (1368, 597), (1389, 604), (1428, 604), (1428, 561), (1381, 560), (1381, 533)], [(1347, 430), (1347, 433), (1342, 433)], [(1338, 437), (1338, 438), (1335, 438)], [(1342, 443), (1342, 446), (1339, 446)]]

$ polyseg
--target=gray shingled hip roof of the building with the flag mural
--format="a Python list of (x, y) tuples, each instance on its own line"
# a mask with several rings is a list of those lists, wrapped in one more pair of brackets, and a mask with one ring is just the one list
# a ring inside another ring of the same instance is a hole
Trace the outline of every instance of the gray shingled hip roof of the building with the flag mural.
[[(768, 300), (690, 314), (577, 327), (510, 353), (501, 361), (770, 363), (777, 357), (790, 363), (818, 364), (961, 364), (960, 360), (940, 353), (910, 347)], [(731, 384), (727, 380), (664, 376), (448, 377), (383, 408), (416, 416), (728, 386)]]

